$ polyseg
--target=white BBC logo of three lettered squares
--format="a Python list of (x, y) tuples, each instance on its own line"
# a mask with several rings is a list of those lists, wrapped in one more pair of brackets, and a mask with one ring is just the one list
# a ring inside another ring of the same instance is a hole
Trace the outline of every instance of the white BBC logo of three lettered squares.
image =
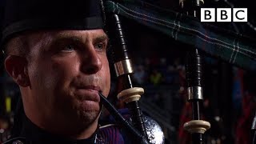
[(201, 22), (247, 22), (247, 8), (201, 8)]

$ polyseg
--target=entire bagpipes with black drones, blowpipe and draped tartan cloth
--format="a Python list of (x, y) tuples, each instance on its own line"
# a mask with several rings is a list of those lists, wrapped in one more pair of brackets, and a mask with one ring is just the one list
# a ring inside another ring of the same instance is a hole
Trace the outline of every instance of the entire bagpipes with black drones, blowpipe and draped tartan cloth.
[[(164, 143), (164, 138), (160, 138), (161, 142), (150, 139), (156, 130), (147, 128), (149, 126), (146, 126), (139, 106), (139, 99), (144, 90), (141, 87), (133, 86), (134, 70), (119, 16), (130, 18), (143, 26), (158, 30), (178, 42), (186, 42), (191, 45), (186, 55), (186, 87), (188, 102), (192, 106), (192, 120), (184, 124), (184, 129), (192, 135), (192, 143), (206, 143), (204, 133), (210, 129), (210, 122), (202, 120), (200, 115), (202, 108), (200, 106), (203, 102), (201, 52), (246, 70), (255, 70), (256, 50), (252, 38), (226, 30), (220, 30), (216, 34), (214, 26), (199, 22), (200, 9), (204, 5), (202, 0), (181, 0), (179, 5), (181, 12), (175, 13), (156, 6), (154, 9), (149, 9), (150, 5), (147, 2), (104, 1), (106, 30), (109, 30), (110, 44), (114, 54), (114, 70), (118, 84), (122, 87), (118, 90), (118, 100), (126, 103), (131, 114), (132, 124), (122, 118), (114, 106), (107, 102), (102, 94), (100, 95), (103, 106), (136, 136), (137, 143)], [(168, 16), (168, 14), (170, 15)], [(192, 40), (188, 41), (188, 39), (182, 38), (184, 35)], [(231, 42), (234, 42), (234, 45), (230, 44)], [(254, 129), (255, 123), (254, 120)]]

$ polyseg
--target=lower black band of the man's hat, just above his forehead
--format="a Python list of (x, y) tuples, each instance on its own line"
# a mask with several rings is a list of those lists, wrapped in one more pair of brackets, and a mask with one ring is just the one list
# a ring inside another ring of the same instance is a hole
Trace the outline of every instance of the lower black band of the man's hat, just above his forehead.
[(101, 17), (89, 18), (38, 18), (14, 22), (2, 31), (2, 42), (14, 34), (26, 30), (92, 30), (102, 29), (104, 23)]

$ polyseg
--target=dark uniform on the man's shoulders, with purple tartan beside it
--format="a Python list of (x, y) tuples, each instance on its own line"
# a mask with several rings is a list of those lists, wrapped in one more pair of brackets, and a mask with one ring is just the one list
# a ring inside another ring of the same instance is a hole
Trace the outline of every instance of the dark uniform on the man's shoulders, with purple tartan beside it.
[(46, 144), (46, 143), (61, 143), (61, 144), (124, 144), (130, 143), (130, 136), (121, 126), (110, 124), (99, 127), (98, 130), (90, 138), (72, 139), (50, 134), (46, 130), (35, 126), (26, 116), (23, 117), (22, 130), (14, 138), (6, 141), (5, 144)]

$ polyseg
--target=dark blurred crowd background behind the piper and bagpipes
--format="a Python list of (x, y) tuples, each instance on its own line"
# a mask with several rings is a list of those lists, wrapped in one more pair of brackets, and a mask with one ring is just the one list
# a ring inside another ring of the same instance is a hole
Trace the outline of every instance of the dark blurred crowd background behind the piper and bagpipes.
[[(179, 10), (177, 0), (147, 0), (155, 6)], [(0, 0), (0, 10), (4, 1)], [(206, 0), (206, 7), (248, 8), (248, 22), (215, 22), (213, 25), (256, 38), (256, 10), (252, 0)], [(2, 14), (2, 11), (1, 11)], [(0, 21), (2, 16), (0, 16)], [(183, 130), (190, 121), (187, 102), (185, 59), (190, 46), (158, 33), (126, 18), (122, 19), (128, 48), (134, 63), (134, 79), (145, 94), (141, 98), (144, 114), (154, 118), (164, 131), (166, 143), (191, 143)], [(14, 122), (16, 102), (20, 97), (16, 84), (4, 70), (0, 58), (0, 143), (6, 141)], [(210, 122), (207, 143), (251, 143), (251, 125), (256, 109), (256, 74), (210, 55), (202, 55), (203, 96), (202, 119)], [(112, 63), (110, 62), (110, 65)], [(110, 99), (116, 99), (116, 76), (111, 67)]]

